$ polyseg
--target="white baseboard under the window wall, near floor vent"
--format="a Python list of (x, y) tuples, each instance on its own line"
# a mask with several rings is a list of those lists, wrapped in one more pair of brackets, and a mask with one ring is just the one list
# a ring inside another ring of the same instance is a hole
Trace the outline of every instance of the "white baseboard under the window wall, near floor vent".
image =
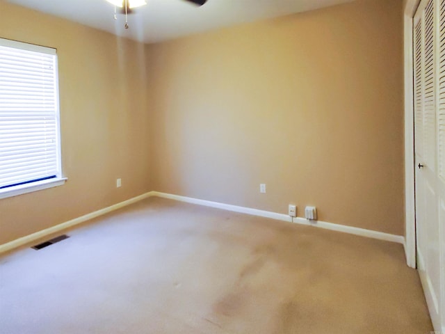
[(139, 200), (143, 200), (144, 198), (147, 198), (149, 196), (152, 196), (152, 192), (143, 193), (140, 196), (130, 198), (129, 200), (124, 200), (123, 202), (119, 202), (115, 205), (111, 205), (110, 207), (105, 207), (104, 209), (100, 209), (95, 212), (91, 212), (90, 214), (86, 214), (84, 216), (74, 218), (71, 221), (65, 221), (65, 223), (61, 223), (56, 226), (52, 226), (51, 228), (46, 228), (44, 230), (40, 230), (33, 234), (26, 235), (25, 237), (15, 239), (15, 240), (10, 241), (6, 244), (0, 245), (0, 254), (8, 252), (9, 250), (13, 250), (15, 248), (22, 247), (26, 244), (31, 244), (31, 242), (33, 242), (35, 240), (43, 239), (44, 237), (47, 237), (51, 234), (66, 230), (67, 228), (72, 228), (75, 225), (79, 225), (80, 223), (89, 221), (92, 218), (102, 216), (103, 214), (108, 214), (108, 212), (112, 212), (114, 210), (120, 209), (121, 207), (125, 207), (127, 205), (133, 204), (133, 203), (138, 202)]

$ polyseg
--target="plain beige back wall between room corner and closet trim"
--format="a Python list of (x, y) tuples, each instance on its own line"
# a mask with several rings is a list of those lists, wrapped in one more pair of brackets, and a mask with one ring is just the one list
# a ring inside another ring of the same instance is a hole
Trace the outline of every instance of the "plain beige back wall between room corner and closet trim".
[(154, 189), (404, 234), (402, 3), (147, 46)]

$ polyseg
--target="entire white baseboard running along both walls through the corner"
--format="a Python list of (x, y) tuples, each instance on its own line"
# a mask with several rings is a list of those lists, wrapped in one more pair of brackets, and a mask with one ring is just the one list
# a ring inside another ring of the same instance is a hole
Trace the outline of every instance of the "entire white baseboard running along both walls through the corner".
[(170, 193), (161, 193), (159, 191), (149, 191), (148, 193), (143, 193), (140, 196), (136, 196), (134, 198), (130, 198), (129, 200), (124, 200), (123, 202), (119, 202), (115, 205), (111, 205), (110, 207), (105, 207), (104, 209), (97, 210), (95, 212), (91, 212), (90, 214), (86, 214), (79, 218), (74, 218), (70, 221), (65, 221), (65, 223), (60, 223), (56, 226), (52, 226), (51, 228), (47, 228), (45, 230), (41, 230), (35, 232), (33, 234), (29, 234), (26, 237), (22, 237), (19, 239), (15, 239), (6, 244), (0, 245), (0, 254), (8, 252), (9, 250), (13, 250), (15, 248), (19, 248), (26, 244), (31, 244), (31, 242), (43, 239), (51, 234), (61, 232), (66, 230), (67, 228), (72, 228), (75, 225), (79, 225), (86, 221), (89, 221), (92, 218), (96, 218), (98, 216), (102, 216), (104, 214), (108, 214), (108, 212), (113, 212), (121, 207), (125, 207), (127, 205), (133, 204), (145, 198), (157, 196), (161, 198), (169, 198), (172, 200), (178, 200), (181, 202), (188, 202), (191, 204), (204, 205), (206, 207), (215, 207), (217, 209), (224, 209), (232, 212), (239, 212), (241, 214), (251, 214), (252, 216), (260, 216), (265, 218), (272, 218), (278, 221), (287, 221), (289, 223), (298, 223), (302, 225), (314, 226), (316, 228), (324, 228), (326, 230), (333, 230), (337, 232), (344, 232), (349, 234), (355, 234), (362, 237), (369, 237), (373, 239), (380, 239), (385, 241), (392, 241), (398, 244), (405, 245), (405, 238), (401, 235), (388, 234), (384, 232), (378, 232), (373, 230), (366, 230), (364, 228), (355, 228), (353, 226), (339, 225), (334, 223), (327, 223), (325, 221), (307, 221), (305, 218), (291, 218), (287, 214), (278, 214), (277, 212), (264, 211), (259, 209), (252, 209), (250, 207), (239, 207), (237, 205), (229, 205), (220, 202), (211, 202), (209, 200), (199, 200), (197, 198), (190, 198), (186, 196), (172, 195)]

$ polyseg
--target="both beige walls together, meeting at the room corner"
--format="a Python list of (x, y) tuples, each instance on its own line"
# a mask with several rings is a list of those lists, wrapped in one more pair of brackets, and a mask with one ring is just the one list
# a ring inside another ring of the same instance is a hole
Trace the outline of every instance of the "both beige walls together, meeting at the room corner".
[(145, 47), (0, 13), (1, 38), (58, 49), (69, 177), (0, 200), (0, 244), (150, 190), (403, 234), (402, 0)]

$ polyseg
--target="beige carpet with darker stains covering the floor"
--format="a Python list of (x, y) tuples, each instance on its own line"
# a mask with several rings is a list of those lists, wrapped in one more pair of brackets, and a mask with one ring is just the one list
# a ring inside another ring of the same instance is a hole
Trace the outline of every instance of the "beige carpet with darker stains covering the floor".
[(403, 247), (149, 198), (0, 258), (0, 333), (429, 334)]

